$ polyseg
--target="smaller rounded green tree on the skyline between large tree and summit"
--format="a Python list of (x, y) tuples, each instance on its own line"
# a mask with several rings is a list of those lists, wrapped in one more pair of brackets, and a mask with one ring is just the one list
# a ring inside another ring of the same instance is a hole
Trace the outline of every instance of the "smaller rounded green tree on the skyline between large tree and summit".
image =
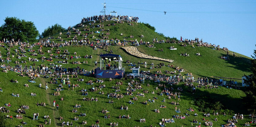
[(63, 30), (65, 30), (65, 28), (56, 23), (55, 25), (52, 25), (52, 27), (49, 26), (47, 29), (44, 29), (44, 32), (42, 32), (40, 38), (51, 36)]

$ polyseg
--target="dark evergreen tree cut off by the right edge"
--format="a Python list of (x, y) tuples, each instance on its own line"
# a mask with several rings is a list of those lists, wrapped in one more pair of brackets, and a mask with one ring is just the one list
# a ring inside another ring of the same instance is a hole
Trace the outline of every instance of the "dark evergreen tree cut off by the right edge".
[(245, 83), (249, 84), (248, 91), (246, 91), (246, 102), (247, 102), (248, 110), (251, 111), (252, 113), (256, 113), (256, 84), (255, 84), (256, 83), (256, 50), (254, 50), (253, 55), (251, 55), (251, 57), (253, 58), (251, 60), (252, 74), (249, 76), (246, 76), (247, 80), (245, 80)]

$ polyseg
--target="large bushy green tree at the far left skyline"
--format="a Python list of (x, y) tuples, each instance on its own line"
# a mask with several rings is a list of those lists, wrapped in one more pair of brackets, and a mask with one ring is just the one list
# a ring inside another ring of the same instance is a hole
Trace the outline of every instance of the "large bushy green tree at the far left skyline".
[(0, 39), (7, 38), (15, 41), (36, 41), (39, 32), (31, 21), (20, 20), (17, 17), (6, 17), (5, 23), (0, 27)]

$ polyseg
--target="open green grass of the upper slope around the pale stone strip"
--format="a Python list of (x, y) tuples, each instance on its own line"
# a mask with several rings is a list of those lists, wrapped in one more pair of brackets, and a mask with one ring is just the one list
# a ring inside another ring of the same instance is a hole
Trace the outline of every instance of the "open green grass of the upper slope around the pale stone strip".
[[(115, 23), (116, 26), (107, 26), (107, 24), (112, 24)], [(87, 24), (88, 23), (84, 23)], [(99, 23), (95, 23), (96, 25)], [(94, 25), (95, 25), (94, 24)], [(144, 38), (142, 38), (142, 41), (149, 41), (150, 44), (152, 44), (153, 38), (158, 38), (164, 39), (164, 37), (160, 36), (157, 34), (155, 31), (149, 29), (147, 26), (143, 25), (142, 23), (134, 23), (134, 26), (129, 26), (128, 23), (116, 23), (114, 21), (105, 21), (101, 23), (104, 25), (105, 30), (109, 29), (110, 30), (110, 35), (109, 39), (117, 38), (120, 39), (120, 41), (123, 41), (124, 39), (126, 40), (135, 40), (137, 39), (138, 41), (141, 39), (140, 35), (143, 34)], [(89, 26), (89, 25), (88, 25)], [(87, 27), (88, 27), (87, 26)], [(75, 27), (76, 29), (79, 29), (80, 27)], [(83, 33), (89, 34), (88, 31), (83, 31), (83, 29), (79, 29)], [(94, 28), (90, 29), (90, 31), (100, 31), (100, 28)], [(101, 31), (100, 31), (101, 32)], [(63, 32), (63, 34), (66, 34), (67, 32)], [(73, 32), (74, 33), (74, 32)], [(106, 31), (103, 32), (104, 36)], [(123, 34), (121, 36), (120, 34)], [(100, 33), (101, 34), (101, 33)], [(96, 38), (92, 39), (92, 36), (95, 35)], [(99, 34), (94, 33), (93, 35), (89, 35), (90, 41), (95, 41), (97, 42), (97, 38)], [(130, 35), (133, 35), (134, 38), (130, 38)], [(72, 39), (74, 36), (71, 35), (71, 38), (66, 38), (65, 35), (62, 36), (63, 40), (69, 41)], [(58, 37), (58, 34), (55, 34), (53, 36), (55, 38)], [(128, 38), (124, 38), (128, 37)], [(78, 36), (78, 40), (82, 39), (82, 36)], [(58, 39), (53, 39), (53, 41), (58, 42)], [(211, 43), (211, 42), (208, 42)], [(130, 44), (130, 43), (128, 43)], [(146, 45), (140, 45), (138, 47), (139, 51), (146, 53), (148, 55), (152, 56), (157, 56), (160, 58), (167, 58), (167, 59), (172, 59), (174, 62), (172, 63), (174, 66), (180, 66), (183, 67), (184, 70), (187, 72), (192, 72), (195, 74), (195, 77), (199, 76), (218, 76), (218, 77), (231, 77), (231, 78), (242, 78), (242, 76), (250, 74), (250, 67), (251, 63), (250, 60), (251, 58), (235, 53), (236, 58), (232, 57), (233, 51), (229, 51), (230, 54), (230, 60), (224, 60), (221, 59), (220, 56), (226, 56), (226, 51), (223, 51), (220, 49), (220, 51), (217, 50), (212, 50), (213, 47), (197, 47), (196, 44), (195, 48), (192, 48), (192, 46), (187, 46), (187, 47), (182, 47), (181, 44), (171, 44), (171, 43), (164, 43), (164, 44), (154, 44), (156, 48), (148, 48)], [(132, 46), (132, 45), (126, 45), (126, 46)], [(133, 45), (134, 46), (134, 45)], [(174, 48), (177, 48), (177, 50), (169, 50), (170, 46), (174, 46)], [(115, 54), (120, 54), (122, 57), (130, 57), (129, 54), (126, 52), (121, 52), (119, 50), (120, 47), (111, 47), (114, 51)], [(159, 48), (163, 48), (164, 51), (158, 51)], [(189, 57), (183, 57), (180, 54), (181, 53), (187, 52), (189, 54)], [(197, 56), (196, 53), (200, 52), (202, 55), (201, 57)], [(103, 52), (105, 53), (105, 52)], [(88, 54), (89, 55), (89, 54)], [(126, 59), (124, 59), (126, 60)], [(134, 59), (130, 59), (132, 62), (138, 62), (135, 61)], [(146, 60), (147, 63), (151, 63), (151, 60)], [(155, 64), (159, 64), (159, 62), (156, 62)], [(167, 64), (166, 64), (167, 65)], [(164, 69), (166, 70), (166, 69)], [(129, 71), (129, 70), (127, 70)]]

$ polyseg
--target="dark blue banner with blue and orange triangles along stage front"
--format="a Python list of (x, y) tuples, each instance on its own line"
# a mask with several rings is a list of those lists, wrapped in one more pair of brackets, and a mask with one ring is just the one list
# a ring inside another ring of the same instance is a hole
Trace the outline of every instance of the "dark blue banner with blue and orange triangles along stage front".
[(123, 70), (96, 70), (96, 78), (123, 78)]

